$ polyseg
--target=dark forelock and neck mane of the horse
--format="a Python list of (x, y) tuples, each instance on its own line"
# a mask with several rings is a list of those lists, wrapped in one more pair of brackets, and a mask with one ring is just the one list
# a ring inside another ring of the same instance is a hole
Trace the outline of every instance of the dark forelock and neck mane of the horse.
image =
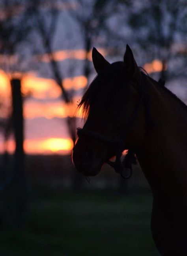
[[(111, 68), (112, 67), (112, 68)], [(120, 68), (119, 68), (120, 67)], [(94, 101), (95, 95), (96, 93), (98, 93), (99, 91), (99, 87), (100, 87), (100, 83), (102, 83), (101, 86), (101, 90), (103, 89), (103, 92), (99, 92), (99, 93), (105, 93), (108, 94), (107, 97), (112, 97), (114, 96), (114, 93), (116, 93), (118, 85), (121, 85), (122, 83), (124, 84), (125, 80), (127, 81), (127, 84), (130, 84), (130, 80), (127, 77), (127, 75), (124, 72), (124, 66), (123, 66), (123, 62), (119, 61), (116, 63), (112, 63), (110, 66), (108, 66), (104, 72), (102, 72), (101, 74), (97, 75), (94, 80), (92, 81), (92, 83), (90, 84), (90, 86), (88, 87), (88, 89), (86, 90), (86, 92), (84, 93), (84, 95), (82, 96), (82, 99), (80, 101), (80, 103), (78, 104), (78, 108), (82, 107), (82, 116), (84, 118), (88, 117), (88, 114), (90, 112), (90, 104), (92, 104), (92, 102)], [(153, 78), (151, 78), (148, 73), (146, 72), (146, 70), (144, 70), (144, 68), (142, 67), (138, 67), (141, 75), (144, 81), (149, 81), (152, 82), (155, 86), (159, 87), (161, 90), (165, 91), (167, 94), (169, 94), (171, 97), (173, 97), (177, 102), (180, 103), (180, 105), (187, 110), (187, 105), (181, 101), (174, 93), (172, 93), (169, 89), (167, 89), (165, 86), (161, 85), (159, 82), (155, 81)], [(106, 78), (108, 78), (107, 73), (110, 72), (110, 74), (112, 74), (112, 76), (110, 76), (110, 80), (106, 81)], [(105, 81), (105, 82), (103, 82)], [(116, 86), (114, 86), (114, 84), (116, 84)], [(127, 86), (123, 86), (124, 90), (125, 87)], [(113, 91), (112, 91), (113, 90)], [(119, 97), (120, 97), (121, 93), (119, 93)], [(121, 95), (122, 97), (122, 95)], [(115, 97), (112, 98), (112, 100)], [(116, 102), (119, 104), (120, 100), (118, 99), (118, 97), (116, 97)], [(105, 103), (105, 102), (103, 102)], [(111, 105), (111, 101), (108, 101), (107, 104)], [(101, 104), (101, 107), (106, 107), (108, 108), (109, 105), (104, 106), (105, 104)], [(117, 114), (117, 113), (116, 113)]]

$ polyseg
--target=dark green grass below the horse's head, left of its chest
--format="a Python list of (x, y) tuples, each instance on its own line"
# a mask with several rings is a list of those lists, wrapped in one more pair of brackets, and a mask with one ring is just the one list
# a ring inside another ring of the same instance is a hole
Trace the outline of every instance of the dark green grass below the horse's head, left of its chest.
[(43, 191), (22, 231), (1, 231), (4, 256), (158, 256), (150, 232), (151, 194)]

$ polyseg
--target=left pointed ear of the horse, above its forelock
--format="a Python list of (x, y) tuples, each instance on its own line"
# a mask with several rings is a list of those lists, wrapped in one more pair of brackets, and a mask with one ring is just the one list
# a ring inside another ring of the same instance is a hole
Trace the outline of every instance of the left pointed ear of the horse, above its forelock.
[(92, 50), (92, 61), (94, 63), (94, 68), (97, 74), (99, 74), (101, 70), (103, 70), (103, 68), (110, 65), (110, 63), (107, 60), (105, 60), (103, 55), (101, 55), (101, 53), (99, 53), (99, 51), (97, 51), (95, 47)]

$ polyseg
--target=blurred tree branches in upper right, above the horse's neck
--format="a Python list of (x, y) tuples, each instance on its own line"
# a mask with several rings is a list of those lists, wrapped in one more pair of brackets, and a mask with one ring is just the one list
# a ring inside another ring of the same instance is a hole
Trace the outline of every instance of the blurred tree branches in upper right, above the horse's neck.
[[(185, 0), (118, 0), (128, 27), (127, 40), (136, 46), (142, 59), (160, 59), (161, 78), (184, 75), (187, 31)], [(149, 54), (148, 54), (149, 53)], [(173, 69), (171, 63), (176, 63)], [(166, 74), (166, 66), (168, 66)]]

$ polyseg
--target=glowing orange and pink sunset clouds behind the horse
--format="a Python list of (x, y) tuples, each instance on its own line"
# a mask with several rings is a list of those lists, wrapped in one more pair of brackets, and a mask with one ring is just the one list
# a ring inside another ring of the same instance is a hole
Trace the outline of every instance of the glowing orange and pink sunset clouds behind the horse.
[[(99, 49), (103, 55), (105, 51)], [(57, 51), (54, 53), (57, 61), (65, 59), (84, 59), (85, 53), (82, 49)], [(88, 59), (91, 61), (91, 55)], [(47, 56), (40, 56), (42, 62), (48, 62)], [(148, 73), (161, 71), (162, 64), (159, 60), (146, 63), (144, 68)], [(93, 73), (93, 77), (95, 73)], [(37, 73), (26, 73), (22, 77), (22, 93), (29, 97), (24, 99), (24, 118), (25, 118), (25, 141), (24, 149), (27, 154), (67, 154), (71, 152), (73, 143), (69, 138), (65, 118), (67, 116), (80, 117), (76, 112), (77, 101), (82, 95), (82, 89), (87, 85), (87, 79), (82, 76), (65, 78), (64, 87), (67, 90), (75, 91), (74, 103), (67, 107), (61, 99), (61, 90), (53, 79), (39, 77)], [(170, 85), (171, 89), (183, 98), (183, 93), (175, 91), (175, 87)], [(7, 74), (0, 70), (0, 89), (1, 97), (6, 106), (11, 104), (10, 85)], [(185, 101), (185, 98), (182, 100)], [(3, 107), (2, 107), (3, 108)], [(0, 111), (3, 117), (5, 111)], [(81, 123), (80, 125), (81, 126)], [(3, 138), (1, 137), (1, 142)], [(10, 152), (14, 150), (13, 138), (9, 140), (8, 148)], [(0, 143), (0, 152), (3, 152), (3, 143)]]

